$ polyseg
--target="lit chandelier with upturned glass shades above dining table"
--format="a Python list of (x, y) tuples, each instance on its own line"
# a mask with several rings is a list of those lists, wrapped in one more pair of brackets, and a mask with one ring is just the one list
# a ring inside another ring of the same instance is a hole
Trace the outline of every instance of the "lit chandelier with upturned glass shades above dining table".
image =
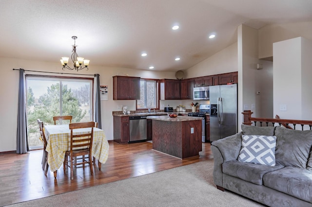
[[(76, 39), (77, 39), (77, 36), (72, 36), (72, 39), (74, 39), (74, 45), (72, 45), (73, 47), (73, 53), (72, 53), (72, 61), (74, 63), (74, 68), (70, 68), (67, 64), (68, 64), (68, 60), (69, 60), (69, 57), (62, 57), (62, 59), (60, 59), (60, 62), (63, 66), (63, 70), (65, 69), (70, 69), (70, 70), (81, 70), (81, 69), (84, 69), (86, 68), (88, 70), (88, 65), (89, 65), (89, 62), (90, 60), (85, 60), (83, 57), (78, 57), (78, 54), (76, 52)], [(82, 68), (82, 63), (84, 65), (84, 67)]]

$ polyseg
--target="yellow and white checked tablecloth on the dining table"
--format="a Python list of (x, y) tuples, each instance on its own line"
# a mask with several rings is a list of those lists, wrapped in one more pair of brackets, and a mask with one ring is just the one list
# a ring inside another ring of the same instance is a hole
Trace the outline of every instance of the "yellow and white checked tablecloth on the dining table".
[[(91, 128), (74, 129), (74, 134), (91, 132)], [(64, 162), (65, 152), (70, 148), (70, 129), (68, 124), (45, 125), (44, 135), (47, 139), (46, 151), (48, 152), (48, 164), (52, 172), (57, 171)], [(109, 144), (104, 131), (93, 129), (92, 156), (100, 163), (105, 163), (108, 158)]]

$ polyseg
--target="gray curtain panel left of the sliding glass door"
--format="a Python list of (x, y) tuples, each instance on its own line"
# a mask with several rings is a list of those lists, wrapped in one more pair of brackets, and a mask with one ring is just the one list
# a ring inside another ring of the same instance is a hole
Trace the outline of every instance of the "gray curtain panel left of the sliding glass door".
[(29, 152), (27, 140), (27, 123), (26, 123), (26, 90), (25, 90), (25, 73), (20, 69), (20, 86), (19, 86), (19, 103), (18, 103), (18, 129), (16, 153), (23, 154)]

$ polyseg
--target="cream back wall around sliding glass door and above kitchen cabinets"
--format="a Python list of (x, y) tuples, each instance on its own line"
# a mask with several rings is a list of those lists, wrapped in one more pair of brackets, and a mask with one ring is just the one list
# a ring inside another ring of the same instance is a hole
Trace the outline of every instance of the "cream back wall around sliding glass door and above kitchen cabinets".
[[(65, 72), (77, 74), (100, 74), (100, 84), (108, 86), (108, 101), (101, 101), (102, 129), (105, 131), (108, 140), (113, 139), (113, 116), (112, 111), (121, 111), (118, 105), (127, 105), (129, 110), (136, 110), (136, 101), (113, 100), (113, 76), (129, 75), (143, 78), (173, 78), (175, 72), (156, 72), (149, 70), (109, 68), (90, 65), (89, 70), (64, 71), (61, 69), (58, 61), (55, 63), (29, 61), (14, 58), (0, 57), (1, 76), (0, 76), (0, 152), (16, 150), (16, 133), (17, 133), (17, 108), (18, 108), (18, 90), (19, 90), (19, 70), (37, 70), (49, 72)], [(32, 72), (27, 72), (32, 73)], [(48, 73), (37, 73), (48, 74)], [(54, 74), (55, 75), (55, 74)], [(60, 74), (59, 74), (60, 75)], [(66, 76), (66, 75), (63, 75)], [(79, 76), (79, 75), (78, 75)], [(90, 77), (90, 76), (88, 76)], [(173, 102), (174, 105), (180, 104), (180, 101)], [(172, 104), (164, 101), (162, 104)]]

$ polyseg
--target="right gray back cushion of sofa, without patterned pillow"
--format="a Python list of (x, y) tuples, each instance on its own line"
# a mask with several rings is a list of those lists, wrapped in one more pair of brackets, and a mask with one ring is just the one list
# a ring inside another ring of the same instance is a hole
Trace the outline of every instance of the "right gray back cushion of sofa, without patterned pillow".
[(312, 130), (299, 131), (276, 126), (276, 163), (307, 168), (312, 146)]

